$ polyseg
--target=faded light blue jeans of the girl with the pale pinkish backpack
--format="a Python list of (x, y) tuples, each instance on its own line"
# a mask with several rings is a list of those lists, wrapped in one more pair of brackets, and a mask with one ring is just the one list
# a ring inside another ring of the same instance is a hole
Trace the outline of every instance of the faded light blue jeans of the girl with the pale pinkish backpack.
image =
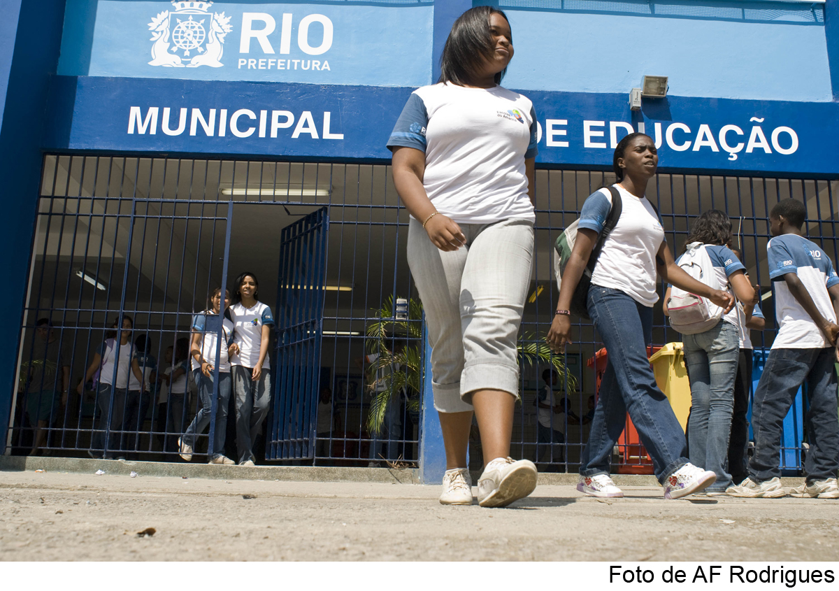
[(690, 463), (717, 474), (708, 490), (724, 492), (732, 484), (726, 461), (740, 357), (737, 327), (721, 320), (706, 332), (683, 335), (682, 341), (690, 375)]

